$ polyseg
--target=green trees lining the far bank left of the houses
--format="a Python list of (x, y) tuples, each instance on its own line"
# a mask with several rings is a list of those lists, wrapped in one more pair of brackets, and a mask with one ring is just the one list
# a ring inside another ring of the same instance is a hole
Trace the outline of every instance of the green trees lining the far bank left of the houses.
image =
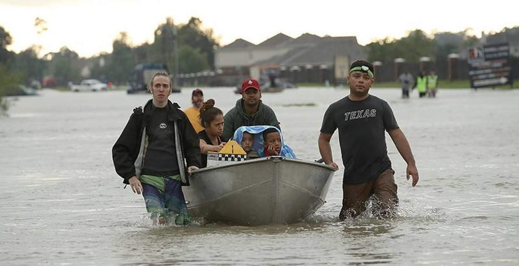
[[(45, 20), (36, 18), (38, 34), (47, 30)], [(29, 86), (31, 81), (55, 78), (58, 86), (69, 81), (95, 78), (115, 85), (125, 85), (136, 64), (165, 63), (174, 68), (173, 40), (178, 47), (179, 73), (194, 73), (214, 69), (214, 50), (219, 46), (212, 29), (203, 29), (202, 21), (192, 17), (185, 24), (173, 24), (171, 18), (157, 26), (153, 43), (133, 46), (126, 32), (120, 32), (112, 43), (111, 53), (102, 52), (90, 58), (65, 47), (39, 57), (41, 46), (33, 45), (15, 53), (7, 48), (12, 37), (0, 25), (0, 90), (12, 83)], [(86, 73), (85, 73), (86, 72)], [(1, 94), (1, 91), (0, 91)]]

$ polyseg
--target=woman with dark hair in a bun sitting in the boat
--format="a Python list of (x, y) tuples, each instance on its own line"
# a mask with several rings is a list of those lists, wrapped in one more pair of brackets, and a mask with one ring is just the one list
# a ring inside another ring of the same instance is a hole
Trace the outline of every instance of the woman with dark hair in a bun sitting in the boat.
[(202, 167), (207, 167), (207, 152), (220, 151), (225, 142), (222, 142), (224, 132), (224, 114), (222, 110), (214, 107), (214, 100), (209, 99), (200, 107), (200, 121), (204, 130), (198, 132), (200, 137), (200, 159)]

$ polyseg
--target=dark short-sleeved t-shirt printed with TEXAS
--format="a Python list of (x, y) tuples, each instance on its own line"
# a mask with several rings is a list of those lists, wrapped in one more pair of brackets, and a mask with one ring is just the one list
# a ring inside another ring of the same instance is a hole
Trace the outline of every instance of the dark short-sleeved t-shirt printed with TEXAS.
[(386, 101), (373, 95), (362, 101), (346, 96), (331, 104), (324, 113), (321, 132), (333, 134), (337, 128), (345, 184), (366, 183), (391, 167), (385, 131), (399, 127)]

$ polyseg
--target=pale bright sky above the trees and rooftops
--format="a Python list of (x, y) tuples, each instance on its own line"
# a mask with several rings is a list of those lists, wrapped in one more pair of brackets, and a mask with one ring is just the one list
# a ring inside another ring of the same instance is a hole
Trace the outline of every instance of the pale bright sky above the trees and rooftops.
[[(377, 38), (400, 38), (409, 30), (459, 32), (468, 27), (500, 31), (519, 25), (519, 1), (177, 1), (177, 0), (0, 0), (0, 25), (13, 38), (8, 49), (33, 44), (42, 54), (67, 46), (81, 57), (112, 51), (112, 41), (126, 31), (133, 45), (153, 41), (156, 27), (172, 17), (186, 23), (198, 17), (221, 45), (243, 38), (258, 44), (282, 32), (319, 36), (357, 36), (365, 45)], [(493, 5), (493, 3), (496, 3)], [(428, 6), (427, 4), (430, 4)], [(47, 21), (38, 35), (36, 17)]]

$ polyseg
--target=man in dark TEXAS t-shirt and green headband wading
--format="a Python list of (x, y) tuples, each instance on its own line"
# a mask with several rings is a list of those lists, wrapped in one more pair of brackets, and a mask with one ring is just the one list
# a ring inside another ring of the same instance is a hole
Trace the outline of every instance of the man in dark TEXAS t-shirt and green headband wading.
[(415, 159), (389, 104), (368, 94), (374, 82), (373, 65), (362, 60), (353, 62), (346, 81), (350, 93), (328, 107), (319, 135), (319, 151), (324, 162), (338, 169), (333, 161), (330, 139), (339, 129), (340, 151), (345, 166), (343, 207), (339, 219), (361, 214), (371, 195), (376, 198), (372, 211), (380, 217), (391, 217), (398, 196), (385, 132), (389, 133), (407, 162), (407, 180), (409, 176), (413, 177), (413, 187), (418, 183)]

